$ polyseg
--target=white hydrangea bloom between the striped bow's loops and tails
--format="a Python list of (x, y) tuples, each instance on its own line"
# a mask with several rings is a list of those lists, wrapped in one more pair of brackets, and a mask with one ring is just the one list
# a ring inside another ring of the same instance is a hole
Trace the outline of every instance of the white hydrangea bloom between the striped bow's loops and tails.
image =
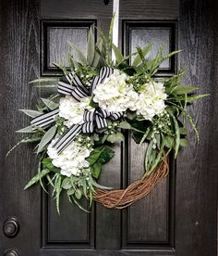
[(81, 124), (83, 122), (83, 114), (85, 109), (91, 109), (89, 106), (90, 97), (84, 97), (77, 101), (73, 96), (65, 96), (60, 99), (59, 116), (67, 120), (67, 127), (73, 124)]

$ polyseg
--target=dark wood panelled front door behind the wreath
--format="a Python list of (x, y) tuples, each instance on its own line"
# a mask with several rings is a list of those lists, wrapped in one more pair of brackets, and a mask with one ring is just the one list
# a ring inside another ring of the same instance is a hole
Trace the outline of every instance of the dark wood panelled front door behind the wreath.
[[(162, 43), (165, 52), (184, 49), (177, 59), (165, 61), (158, 75), (182, 68), (185, 83), (211, 94), (189, 108), (200, 128), (200, 143), (190, 133), (190, 146), (176, 162), (171, 160), (169, 176), (128, 209), (95, 204), (87, 214), (62, 198), (58, 216), (54, 200), (39, 186), (23, 190), (36, 169), (32, 147), (18, 147), (7, 159), (6, 151), (18, 141), (14, 131), (28, 123), (18, 109), (33, 107), (39, 96), (51, 93), (30, 87), (29, 81), (59, 75), (52, 62), (62, 61), (67, 40), (85, 51), (92, 24), (107, 31), (113, 1), (107, 6), (103, 0), (1, 1), (0, 222), (14, 216), (19, 223), (15, 237), (0, 231), (1, 255), (6, 250), (7, 256), (216, 255), (218, 48), (213, 10), (210, 1), (201, 0), (120, 0), (123, 51), (149, 43), (154, 45), (151, 55)], [(115, 150), (101, 182), (127, 186), (142, 173), (142, 150), (128, 138)]]

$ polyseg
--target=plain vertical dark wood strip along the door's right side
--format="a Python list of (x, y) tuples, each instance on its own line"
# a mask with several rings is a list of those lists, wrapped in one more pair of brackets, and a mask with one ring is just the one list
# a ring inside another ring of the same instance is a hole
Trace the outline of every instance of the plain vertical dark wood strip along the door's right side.
[(182, 256), (216, 255), (218, 97), (212, 14), (211, 1), (180, 2), (179, 48), (184, 51), (179, 66), (187, 70), (184, 83), (196, 84), (200, 92), (211, 94), (188, 107), (199, 127), (200, 142), (190, 132), (190, 145), (177, 160), (176, 251)]

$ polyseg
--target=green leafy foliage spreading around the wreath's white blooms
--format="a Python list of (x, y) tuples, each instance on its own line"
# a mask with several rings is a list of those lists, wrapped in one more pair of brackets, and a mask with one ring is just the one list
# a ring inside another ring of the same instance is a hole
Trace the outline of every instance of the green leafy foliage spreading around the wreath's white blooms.
[[(148, 59), (147, 56), (151, 51), (152, 45), (146, 45), (143, 48), (137, 46), (136, 51), (129, 55), (124, 56), (120, 49), (113, 44), (113, 23), (112, 19), (109, 35), (106, 36), (103, 32), (99, 32), (98, 40), (95, 43), (95, 36), (93, 28), (90, 29), (88, 42), (87, 42), (87, 55), (79, 50), (77, 45), (67, 42), (69, 48), (73, 50), (73, 54), (67, 54), (70, 69), (68, 70), (64, 64), (55, 64), (63, 75), (69, 71), (76, 71), (80, 77), (83, 77), (85, 84), (93, 76), (98, 74), (98, 71), (103, 66), (113, 67), (118, 70), (126, 72), (130, 76), (129, 83), (133, 86), (136, 84), (145, 84), (155, 80), (160, 64), (167, 58), (171, 58), (180, 51), (174, 51), (166, 56), (163, 55), (163, 46), (160, 47), (156, 56)], [(112, 59), (112, 54), (115, 54), (115, 60)], [(131, 61), (131, 59), (133, 59)], [(130, 62), (132, 62), (130, 64)], [(87, 75), (89, 79), (87, 79)], [(144, 158), (144, 176), (150, 175), (154, 172), (158, 164), (172, 151), (174, 151), (175, 158), (177, 156), (179, 147), (188, 146), (187, 139), (187, 122), (190, 123), (192, 129), (197, 134), (199, 133), (195, 122), (188, 114), (188, 104), (200, 99), (207, 95), (196, 95), (197, 87), (183, 85), (181, 78), (183, 72), (178, 72), (170, 78), (162, 79), (162, 83), (167, 94), (165, 100), (166, 108), (164, 114), (155, 116), (152, 121), (144, 120), (139, 117), (135, 112), (127, 111), (126, 116), (119, 122), (110, 122), (108, 129), (100, 133), (98, 138), (93, 135), (94, 149), (91, 151), (91, 156), (88, 158), (91, 166), (91, 173), (87, 173), (82, 177), (71, 175), (71, 177), (63, 176), (60, 169), (55, 167), (52, 160), (47, 157), (46, 149), (49, 143), (55, 138), (56, 134), (63, 133), (63, 129), (67, 130), (64, 126), (64, 120), (60, 117), (56, 118), (55, 125), (49, 129), (32, 129), (31, 126), (18, 130), (18, 133), (28, 134), (24, 136), (21, 143), (37, 143), (35, 152), (39, 155), (39, 164), (37, 174), (25, 186), (25, 189), (30, 186), (40, 183), (43, 190), (46, 191), (46, 186), (50, 185), (53, 188), (53, 196), (55, 197), (56, 209), (59, 210), (60, 195), (63, 191), (66, 192), (67, 198), (70, 202), (74, 202), (83, 209), (79, 204), (79, 199), (85, 197), (90, 200), (90, 206), (95, 193), (95, 188), (108, 189), (99, 185), (97, 179), (102, 171), (103, 163), (111, 160), (115, 152), (110, 147), (117, 141), (124, 141), (124, 130), (128, 130), (135, 142), (139, 144), (147, 143), (148, 147), (145, 152)], [(136, 83), (138, 82), (138, 83)], [(35, 87), (53, 88), (57, 87), (58, 80), (55, 78), (40, 78), (30, 82), (30, 85)], [(137, 89), (137, 88), (136, 88)], [(36, 109), (20, 109), (23, 113), (35, 118), (50, 110), (58, 108), (59, 96), (57, 94), (49, 96), (48, 98), (41, 98), (38, 102)], [(91, 101), (92, 107), (96, 103)], [(8, 154), (15, 148), (12, 147)], [(45, 186), (46, 185), (46, 186)]]

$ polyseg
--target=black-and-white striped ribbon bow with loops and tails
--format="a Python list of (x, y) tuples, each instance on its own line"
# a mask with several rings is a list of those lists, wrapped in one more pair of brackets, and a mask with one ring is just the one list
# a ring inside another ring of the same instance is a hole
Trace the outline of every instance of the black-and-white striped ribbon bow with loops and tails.
[[(68, 73), (66, 75), (67, 82), (58, 82), (58, 92), (66, 96), (73, 96), (76, 100), (80, 101), (83, 97), (92, 96), (93, 90), (98, 83), (103, 83), (104, 79), (113, 73), (113, 69), (103, 67), (100, 70), (99, 76), (95, 76), (91, 81), (91, 89), (88, 90), (79, 79), (77, 74)], [(59, 109), (43, 114), (34, 118), (30, 123), (33, 126), (45, 128), (51, 123), (55, 122), (55, 116), (58, 114)], [(82, 124), (74, 124), (67, 131), (67, 134), (62, 135), (54, 144), (54, 148), (58, 153), (61, 153), (75, 138), (77, 134), (91, 134), (95, 130), (101, 131), (108, 125), (107, 119), (113, 121), (118, 120), (123, 116), (123, 112), (109, 112), (104, 109), (86, 110), (83, 115)]]

